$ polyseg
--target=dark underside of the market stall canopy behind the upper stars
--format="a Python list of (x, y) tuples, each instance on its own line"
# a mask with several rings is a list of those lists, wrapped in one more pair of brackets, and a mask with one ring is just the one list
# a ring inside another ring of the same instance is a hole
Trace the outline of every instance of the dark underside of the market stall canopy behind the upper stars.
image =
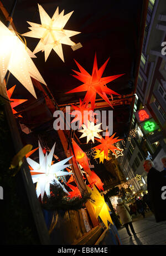
[[(13, 2), (11, 0), (1, 1), (8, 13), (11, 12)], [(84, 67), (89, 74), (92, 74), (95, 53), (98, 68), (110, 58), (102, 77), (124, 74), (107, 83), (108, 88), (120, 94), (120, 96), (113, 95), (113, 132), (117, 132), (117, 135), (121, 138), (127, 137), (131, 126), (148, 1), (18, 1), (13, 14), (13, 23), (19, 34), (30, 31), (27, 21), (41, 24), (38, 4), (44, 8), (50, 18), (57, 7), (59, 7), (59, 13), (64, 10), (64, 15), (74, 11), (64, 29), (81, 32), (72, 36), (71, 39), (75, 43), (81, 43), (82, 45), (81, 48), (73, 51), (71, 46), (62, 44), (64, 62), (53, 50), (50, 52), (46, 62), (44, 52), (35, 53), (37, 58), (33, 58), (33, 62), (48, 86), (46, 88), (44, 84), (41, 85), (41, 88), (44, 88), (43, 93), (44, 91), (48, 94), (51, 92), (49, 98), (53, 96), (60, 109), (63, 109), (66, 105), (79, 105), (80, 99), (81, 101), (84, 100), (86, 92), (66, 94), (66, 92), (82, 84), (81, 81), (71, 76), (75, 74), (72, 70), (79, 72), (75, 61)], [(25, 37), (25, 39), (27, 47), (33, 52), (39, 43), (39, 38)], [(23, 99), (29, 99), (29, 103), (22, 104), (22, 106), (25, 106), (23, 108), (24, 111), (21, 113), (22, 122), (25, 122), (26, 126), (32, 130), (41, 126), (43, 124), (42, 118), (40, 120), (37, 119), (38, 122), (34, 124), (34, 121), (30, 121), (30, 114), (28, 114), (33, 111), (32, 102), (36, 101), (35, 98), (11, 75), (7, 89), (14, 84), (17, 84), (15, 98), (20, 98), (21, 96)], [(38, 90), (40, 90), (39, 85), (36, 87), (34, 84), (34, 88), (38, 96), (40, 94), (38, 93)], [(51, 106), (49, 99), (43, 97), (43, 101), (38, 111), (41, 111), (42, 115), (43, 112), (48, 112), (48, 109), (44, 110), (45, 103), (50, 109), (50, 113), (53, 113), (53, 106)], [(96, 103), (96, 109), (112, 110), (108, 103), (98, 94), (96, 95)], [(30, 104), (30, 108), (28, 104)], [(20, 109), (19, 106), (18, 108)], [(15, 109), (17, 110), (17, 108)], [(26, 119), (27, 116), (29, 118), (28, 121)], [(44, 122), (48, 122), (48, 120), (51, 120), (51, 114), (50, 118), (49, 116), (44, 118)], [(33, 123), (32, 127), (31, 123)]]

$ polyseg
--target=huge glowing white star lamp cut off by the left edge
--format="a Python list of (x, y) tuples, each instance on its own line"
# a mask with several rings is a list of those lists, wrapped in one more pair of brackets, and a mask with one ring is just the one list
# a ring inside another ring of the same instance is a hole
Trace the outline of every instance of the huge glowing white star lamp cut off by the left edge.
[(46, 85), (31, 57), (36, 57), (25, 44), (0, 21), (0, 76), (4, 81), (7, 71), (37, 98), (30, 77)]

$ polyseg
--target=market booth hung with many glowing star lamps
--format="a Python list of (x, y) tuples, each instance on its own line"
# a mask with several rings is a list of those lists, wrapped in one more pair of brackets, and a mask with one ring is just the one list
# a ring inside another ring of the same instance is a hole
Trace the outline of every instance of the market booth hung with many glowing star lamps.
[(131, 127), (147, 3), (0, 2), (4, 244), (121, 244), (104, 163)]

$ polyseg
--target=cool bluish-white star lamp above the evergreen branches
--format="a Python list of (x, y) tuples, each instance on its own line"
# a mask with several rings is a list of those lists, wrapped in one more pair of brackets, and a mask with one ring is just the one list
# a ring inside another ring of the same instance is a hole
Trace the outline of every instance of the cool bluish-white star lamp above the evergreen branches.
[(33, 170), (30, 170), (32, 175), (32, 179), (34, 183), (37, 184), (37, 196), (41, 194), (41, 198), (43, 200), (44, 192), (46, 195), (50, 195), (50, 184), (55, 184), (58, 187), (63, 188), (64, 192), (69, 194), (69, 192), (63, 187), (63, 185), (59, 182), (58, 177), (64, 175), (70, 175), (69, 172), (63, 172), (61, 170), (69, 167), (71, 164), (65, 164), (69, 161), (71, 157), (68, 157), (58, 163), (52, 164), (53, 154), (54, 154), (55, 144), (53, 148), (50, 150), (50, 153), (46, 153), (44, 155), (42, 147), (39, 143), (39, 163), (35, 162), (33, 159), (27, 158), (27, 162)]

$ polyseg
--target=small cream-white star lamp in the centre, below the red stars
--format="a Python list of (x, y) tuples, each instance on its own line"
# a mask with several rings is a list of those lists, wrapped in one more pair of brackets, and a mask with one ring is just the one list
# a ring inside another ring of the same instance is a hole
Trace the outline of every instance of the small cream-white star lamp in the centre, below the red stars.
[(94, 124), (94, 122), (90, 122), (87, 120), (87, 126), (85, 124), (82, 124), (82, 130), (78, 130), (78, 132), (81, 132), (82, 135), (80, 138), (87, 137), (86, 143), (89, 143), (90, 140), (94, 143), (94, 139), (96, 138), (101, 138), (101, 135), (98, 134), (99, 132), (102, 132), (103, 130), (98, 129), (101, 126), (100, 124)]

